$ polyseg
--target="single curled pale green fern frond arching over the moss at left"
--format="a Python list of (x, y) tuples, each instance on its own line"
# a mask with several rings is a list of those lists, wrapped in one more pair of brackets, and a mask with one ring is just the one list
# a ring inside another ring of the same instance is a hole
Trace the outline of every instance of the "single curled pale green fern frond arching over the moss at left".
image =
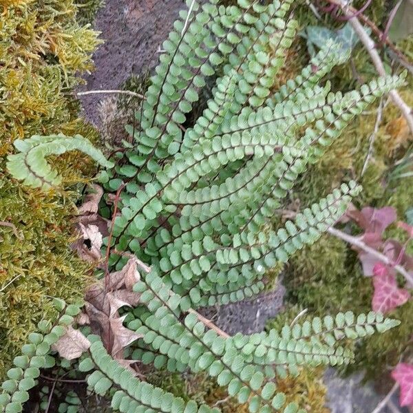
[(39, 187), (43, 191), (58, 186), (62, 181), (59, 173), (47, 163), (46, 156), (61, 155), (77, 149), (91, 156), (103, 167), (112, 167), (112, 162), (107, 161), (99, 149), (80, 135), (35, 135), (28, 139), (15, 140), (13, 143), (20, 153), (8, 156), (8, 171), (14, 178), (23, 180), (24, 184)]

